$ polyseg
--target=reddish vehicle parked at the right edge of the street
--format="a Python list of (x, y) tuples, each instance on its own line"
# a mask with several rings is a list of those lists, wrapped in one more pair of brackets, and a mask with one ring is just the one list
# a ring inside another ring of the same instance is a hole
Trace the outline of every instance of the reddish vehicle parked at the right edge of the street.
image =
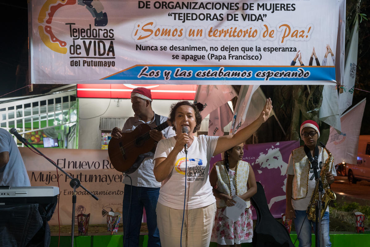
[[(360, 180), (370, 181), (370, 135), (360, 136), (357, 151), (357, 164), (345, 163), (346, 174), (350, 183)], [(343, 167), (342, 166), (342, 167)]]

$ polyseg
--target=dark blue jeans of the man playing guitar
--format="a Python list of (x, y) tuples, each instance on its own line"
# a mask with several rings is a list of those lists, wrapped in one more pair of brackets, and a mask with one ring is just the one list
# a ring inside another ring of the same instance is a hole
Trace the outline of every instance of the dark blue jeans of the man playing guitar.
[[(122, 223), (125, 238), (124, 247), (139, 246), (143, 208), (145, 208), (147, 215), (148, 247), (161, 246), (161, 241), (159, 240), (159, 230), (157, 227), (157, 213), (155, 213), (158, 196), (159, 188), (136, 187), (125, 184), (125, 192), (122, 203)], [(131, 206), (129, 207), (130, 197)], [(128, 208), (130, 208), (129, 211)]]

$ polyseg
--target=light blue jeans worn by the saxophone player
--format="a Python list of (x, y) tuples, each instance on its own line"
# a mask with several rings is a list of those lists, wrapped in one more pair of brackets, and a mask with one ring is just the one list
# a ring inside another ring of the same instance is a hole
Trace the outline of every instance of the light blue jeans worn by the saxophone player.
[[(316, 229), (316, 223), (307, 218), (306, 210), (294, 210), (296, 213), (296, 218), (294, 219), (294, 224), (297, 231), (297, 236), (299, 240), (299, 247), (310, 247), (311, 246), (311, 223), (313, 225), (313, 230)], [(306, 220), (305, 220), (306, 218)], [(304, 222), (303, 222), (304, 221)], [(303, 226), (302, 226), (303, 223)], [(301, 229), (302, 226), (302, 229)], [(325, 247), (331, 247), (329, 236), (329, 212), (325, 212), (321, 219), (321, 235), (324, 239)]]

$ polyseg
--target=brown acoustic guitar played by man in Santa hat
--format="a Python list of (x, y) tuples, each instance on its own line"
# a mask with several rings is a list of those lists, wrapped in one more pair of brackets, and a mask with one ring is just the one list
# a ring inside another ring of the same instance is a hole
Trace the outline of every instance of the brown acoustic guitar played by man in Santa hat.
[[(162, 131), (169, 125), (159, 124), (154, 130)], [(121, 133), (121, 138), (111, 138), (108, 144), (108, 155), (113, 167), (123, 173), (133, 173), (140, 166), (144, 157), (141, 154), (153, 150), (155, 140), (149, 136), (152, 128), (148, 124), (140, 124), (134, 131)]]

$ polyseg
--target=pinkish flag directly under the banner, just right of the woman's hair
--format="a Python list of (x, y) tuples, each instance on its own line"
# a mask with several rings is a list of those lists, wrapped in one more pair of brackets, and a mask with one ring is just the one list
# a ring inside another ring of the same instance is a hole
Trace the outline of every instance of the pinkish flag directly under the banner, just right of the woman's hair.
[(213, 110), (227, 103), (233, 97), (238, 96), (231, 85), (198, 85), (194, 103), (202, 103), (205, 108), (201, 111), (204, 119)]

